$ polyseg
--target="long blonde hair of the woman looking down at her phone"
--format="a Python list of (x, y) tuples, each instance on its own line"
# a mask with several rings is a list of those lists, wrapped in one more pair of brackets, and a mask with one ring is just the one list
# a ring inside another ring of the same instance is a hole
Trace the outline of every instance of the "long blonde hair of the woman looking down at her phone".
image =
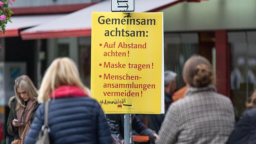
[(14, 85), (15, 97), (17, 100), (17, 106), (15, 110), (18, 110), (21, 107), (26, 107), (25, 105), (23, 105), (23, 100), (19, 96), (17, 92), (17, 88), (23, 89), (29, 95), (31, 100), (37, 99), (37, 89), (34, 86), (31, 79), (27, 75), (19, 76), (15, 79), (15, 85)]

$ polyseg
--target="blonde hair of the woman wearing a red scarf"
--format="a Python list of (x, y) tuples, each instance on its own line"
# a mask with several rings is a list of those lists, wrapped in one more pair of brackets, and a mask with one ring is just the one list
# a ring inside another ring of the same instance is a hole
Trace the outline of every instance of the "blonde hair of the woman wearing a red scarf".
[(62, 85), (77, 86), (90, 95), (90, 90), (80, 80), (75, 63), (64, 57), (55, 59), (47, 68), (38, 91), (38, 102), (49, 101), (50, 94)]

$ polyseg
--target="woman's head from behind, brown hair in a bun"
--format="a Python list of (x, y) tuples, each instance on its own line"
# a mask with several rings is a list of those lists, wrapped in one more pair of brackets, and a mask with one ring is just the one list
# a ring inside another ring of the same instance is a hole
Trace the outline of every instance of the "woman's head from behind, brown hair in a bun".
[(212, 65), (202, 56), (192, 56), (185, 62), (183, 76), (192, 87), (200, 88), (214, 84)]

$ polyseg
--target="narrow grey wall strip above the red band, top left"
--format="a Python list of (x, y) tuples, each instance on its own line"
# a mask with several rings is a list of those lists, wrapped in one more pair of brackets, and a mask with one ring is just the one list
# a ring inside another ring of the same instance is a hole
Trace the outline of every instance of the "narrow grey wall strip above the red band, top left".
[(33, 7), (99, 2), (101, 0), (16, 0), (10, 7)]

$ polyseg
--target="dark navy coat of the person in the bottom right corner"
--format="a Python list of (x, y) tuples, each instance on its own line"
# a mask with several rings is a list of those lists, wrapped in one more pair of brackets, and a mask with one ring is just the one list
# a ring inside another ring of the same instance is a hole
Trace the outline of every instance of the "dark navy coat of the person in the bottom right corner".
[(256, 108), (247, 110), (229, 137), (228, 144), (256, 143)]

